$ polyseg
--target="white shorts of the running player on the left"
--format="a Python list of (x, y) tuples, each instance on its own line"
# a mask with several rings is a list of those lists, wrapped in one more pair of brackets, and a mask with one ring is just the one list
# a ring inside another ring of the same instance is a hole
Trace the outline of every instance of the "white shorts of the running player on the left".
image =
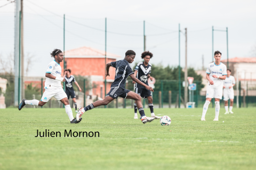
[(41, 98), (41, 101), (47, 102), (52, 97), (54, 97), (57, 100), (61, 100), (63, 98), (67, 97), (66, 92), (63, 89), (45, 89), (44, 94)]

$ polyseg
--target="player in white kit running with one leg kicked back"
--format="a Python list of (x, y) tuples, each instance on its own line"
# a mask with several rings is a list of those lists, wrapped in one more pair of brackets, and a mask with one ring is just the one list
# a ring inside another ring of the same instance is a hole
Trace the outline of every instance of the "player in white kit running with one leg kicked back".
[(54, 49), (51, 53), (51, 57), (53, 57), (54, 60), (50, 64), (48, 64), (46, 69), (46, 80), (44, 84), (45, 91), (41, 98), (41, 101), (35, 99), (22, 99), (19, 105), (19, 111), (25, 105), (43, 106), (47, 103), (47, 101), (54, 97), (55, 99), (60, 100), (61, 103), (65, 105), (66, 113), (68, 114), (70, 123), (79, 123), (82, 119), (80, 118), (79, 121), (77, 121), (76, 118), (73, 117), (73, 113), (69, 105), (66, 92), (62, 89), (61, 82), (66, 81), (64, 78), (61, 77), (60, 62), (63, 61), (63, 53), (60, 49)]

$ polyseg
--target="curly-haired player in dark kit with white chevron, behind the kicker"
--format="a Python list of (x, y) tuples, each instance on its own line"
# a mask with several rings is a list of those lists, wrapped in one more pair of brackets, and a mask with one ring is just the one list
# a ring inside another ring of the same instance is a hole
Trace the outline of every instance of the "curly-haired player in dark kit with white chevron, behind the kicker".
[[(139, 79), (142, 83), (148, 85), (148, 79), (153, 80), (153, 78), (149, 75), (151, 73), (152, 65), (149, 63), (150, 58), (153, 57), (153, 54), (150, 52), (143, 52), (141, 54), (141, 58), (144, 60), (143, 62), (139, 62), (134, 69), (134, 74), (136, 75), (137, 79)], [(146, 89), (141, 84), (135, 83), (135, 93), (140, 95), (143, 99), (148, 98), (148, 107), (150, 108), (151, 117), (161, 118), (160, 116), (156, 116), (154, 113), (154, 106), (153, 106), (153, 97), (151, 95), (151, 91)], [(138, 119), (137, 115), (137, 104), (136, 101), (134, 102), (134, 119)]]

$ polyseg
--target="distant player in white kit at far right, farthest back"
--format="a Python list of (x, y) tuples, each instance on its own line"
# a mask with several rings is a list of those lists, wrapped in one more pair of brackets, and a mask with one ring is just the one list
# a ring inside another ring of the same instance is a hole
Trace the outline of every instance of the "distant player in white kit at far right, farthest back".
[[(231, 70), (227, 70), (227, 78), (224, 80), (224, 86), (223, 86), (223, 100), (225, 102), (225, 115), (226, 114), (233, 114), (233, 104), (234, 104), (234, 89), (233, 87), (236, 84), (234, 76), (230, 75)], [(230, 99), (230, 106), (228, 111), (228, 99)]]

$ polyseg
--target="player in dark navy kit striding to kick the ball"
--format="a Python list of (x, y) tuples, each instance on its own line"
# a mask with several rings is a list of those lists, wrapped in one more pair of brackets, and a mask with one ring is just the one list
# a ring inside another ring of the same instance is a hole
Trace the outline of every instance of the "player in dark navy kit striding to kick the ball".
[(147, 84), (142, 83), (139, 79), (135, 78), (135, 75), (131, 69), (130, 63), (134, 61), (135, 58), (135, 52), (133, 50), (127, 50), (125, 53), (124, 60), (119, 60), (116, 62), (108, 63), (106, 66), (106, 77), (109, 76), (109, 67), (115, 67), (116, 68), (116, 75), (115, 80), (111, 84), (110, 91), (108, 92), (107, 96), (103, 100), (95, 101), (94, 103), (84, 107), (79, 108), (78, 113), (76, 114), (78, 120), (79, 118), (84, 114), (84, 112), (89, 111), (93, 109), (94, 107), (107, 105), (117, 97), (122, 97), (124, 99), (133, 99), (136, 100), (137, 106), (139, 108), (139, 113), (141, 115), (141, 121), (142, 123), (151, 122), (155, 119), (155, 117), (147, 117), (144, 113), (144, 109), (142, 107), (141, 103), (141, 97), (138, 94), (135, 94), (135, 92), (125, 89), (125, 82), (128, 76), (132, 78), (133, 81), (137, 82), (138, 84), (141, 84), (141, 86), (145, 87), (146, 89), (150, 91), (154, 91), (151, 87), (149, 87)]

